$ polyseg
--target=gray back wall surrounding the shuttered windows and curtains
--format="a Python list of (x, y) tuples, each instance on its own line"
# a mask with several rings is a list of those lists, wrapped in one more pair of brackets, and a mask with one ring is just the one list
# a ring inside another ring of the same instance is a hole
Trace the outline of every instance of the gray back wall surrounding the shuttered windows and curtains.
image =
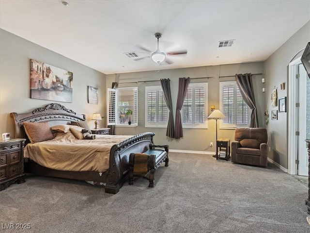
[[(156, 64), (154, 64), (155, 66)], [(175, 117), (176, 101), (178, 95), (179, 78), (190, 77), (212, 77), (210, 79), (196, 79), (191, 80), (191, 83), (208, 82), (208, 115), (211, 114), (211, 105), (216, 105), (219, 108), (219, 82), (233, 81), (234, 77), (219, 78), (219, 76), (231, 76), (240, 73), (264, 73), (263, 62), (221, 65), (221, 66), (207, 66), (207, 67), (192, 67), (181, 69), (169, 69), (148, 72), (134, 72), (122, 73), (117, 75), (107, 75), (107, 87), (111, 87), (112, 82), (125, 83), (137, 81), (157, 80), (157, 82), (139, 83), (138, 84), (138, 99), (139, 99), (139, 121), (138, 127), (116, 127), (116, 134), (136, 134), (151, 131), (155, 135), (155, 144), (169, 144), (170, 149), (173, 150), (195, 150), (195, 151), (214, 151), (216, 147), (210, 147), (210, 142), (215, 145), (216, 128), (215, 120), (208, 121), (208, 129), (183, 129), (184, 137), (181, 139), (171, 139), (166, 136), (166, 128), (145, 128), (145, 85), (160, 85), (158, 82), (162, 78), (171, 79), (171, 92), (173, 102), (173, 115)], [(264, 111), (265, 111), (265, 94), (262, 92), (263, 75), (253, 76), (254, 92), (257, 103), (257, 111), (259, 115), (259, 125), (264, 127)], [(120, 84), (119, 87), (135, 86), (136, 84)], [(219, 129), (217, 131), (218, 138), (230, 138), (233, 140), (235, 130)]]

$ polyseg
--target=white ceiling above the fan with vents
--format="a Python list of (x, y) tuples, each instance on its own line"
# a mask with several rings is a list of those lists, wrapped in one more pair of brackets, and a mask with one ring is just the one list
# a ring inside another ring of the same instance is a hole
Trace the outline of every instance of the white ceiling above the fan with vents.
[[(310, 0), (66, 1), (0, 0), (0, 28), (113, 74), (264, 61), (310, 20)], [(159, 66), (124, 55), (149, 55), (137, 45), (155, 51), (156, 32), (160, 50), (186, 56)], [(232, 47), (218, 48), (231, 39)]]

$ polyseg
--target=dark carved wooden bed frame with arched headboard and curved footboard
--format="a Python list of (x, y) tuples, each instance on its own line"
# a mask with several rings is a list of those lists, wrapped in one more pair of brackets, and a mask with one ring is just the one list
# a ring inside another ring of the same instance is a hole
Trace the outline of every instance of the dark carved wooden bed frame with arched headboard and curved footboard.
[[(27, 139), (25, 150), (28, 150), (28, 144), (29, 147), (33, 144), (30, 142), (27, 133), (25, 133), (24, 123), (27, 125), (28, 122), (48, 122), (48, 125), (53, 127), (58, 125), (71, 125), (72, 122), (86, 122), (86, 116), (84, 114), (77, 114), (73, 110), (67, 109), (59, 103), (51, 103), (44, 107), (36, 108), (29, 113), (11, 113), (10, 116), (13, 119), (15, 138)], [(42, 176), (101, 183), (104, 184), (106, 193), (116, 194), (128, 178), (130, 153), (142, 153), (149, 150), (149, 145), (150, 143), (153, 143), (154, 135), (155, 133), (152, 132), (140, 133), (134, 136), (128, 136), (128, 139), (113, 144), (109, 149), (108, 168), (105, 171), (100, 171), (98, 169), (81, 171), (72, 169), (53, 169), (42, 166), (30, 158), (25, 158), (24, 172)], [(109, 137), (111, 136), (112, 135), (109, 135)], [(99, 139), (94, 139), (92, 141), (95, 140)], [(91, 140), (84, 139), (83, 141), (89, 143)], [(39, 145), (39, 143), (34, 144)], [(68, 146), (70, 146), (69, 144)], [(56, 151), (56, 153), (61, 155), (62, 151)]]

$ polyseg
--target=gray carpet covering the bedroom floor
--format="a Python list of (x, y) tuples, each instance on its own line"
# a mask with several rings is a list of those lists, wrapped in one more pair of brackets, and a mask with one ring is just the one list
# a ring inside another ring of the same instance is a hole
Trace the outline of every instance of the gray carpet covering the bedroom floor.
[[(4, 224), (29, 223), (26, 233), (309, 233), (308, 187), (268, 168), (170, 153), (155, 187), (140, 178), (116, 195), (100, 186), (28, 175), (0, 192)], [(2, 225), (3, 224), (3, 225)], [(16, 225), (15, 225), (16, 227)]]

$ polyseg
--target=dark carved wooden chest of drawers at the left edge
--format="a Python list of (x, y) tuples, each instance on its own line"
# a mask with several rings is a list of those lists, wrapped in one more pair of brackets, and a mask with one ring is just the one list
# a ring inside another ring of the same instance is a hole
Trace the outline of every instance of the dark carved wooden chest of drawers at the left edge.
[(24, 183), (24, 144), (26, 139), (0, 140), (0, 191), (12, 183)]

